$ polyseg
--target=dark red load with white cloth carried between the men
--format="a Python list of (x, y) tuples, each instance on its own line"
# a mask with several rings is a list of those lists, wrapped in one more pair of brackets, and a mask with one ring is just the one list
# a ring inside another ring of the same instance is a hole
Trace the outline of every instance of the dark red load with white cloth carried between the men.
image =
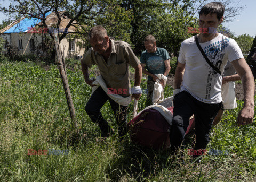
[[(127, 123), (131, 140), (155, 150), (170, 147), (170, 127), (173, 117), (172, 97), (159, 100), (137, 114), (138, 101), (134, 101), (133, 119)], [(186, 134), (194, 128), (194, 115), (190, 117)]]

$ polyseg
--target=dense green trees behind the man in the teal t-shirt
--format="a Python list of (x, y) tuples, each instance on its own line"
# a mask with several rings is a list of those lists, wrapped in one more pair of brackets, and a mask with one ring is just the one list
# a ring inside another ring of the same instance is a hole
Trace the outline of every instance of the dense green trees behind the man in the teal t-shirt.
[[(120, 4), (125, 10), (132, 10), (131, 41), (135, 54), (145, 50), (143, 39), (153, 34), (157, 46), (162, 46), (178, 56), (180, 44), (193, 34), (188, 27), (198, 28), (199, 10), (210, 0), (123, 0)], [(221, 0), (226, 6), (225, 21), (232, 21), (244, 7), (231, 5), (231, 0)]]

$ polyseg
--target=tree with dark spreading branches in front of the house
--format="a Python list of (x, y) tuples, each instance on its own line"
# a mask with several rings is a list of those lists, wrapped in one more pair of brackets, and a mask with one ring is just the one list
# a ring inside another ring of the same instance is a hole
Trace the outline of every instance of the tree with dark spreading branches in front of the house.
[[(132, 16), (130, 12), (122, 10), (119, 3), (119, 0), (14, 0), (14, 4), (10, 4), (9, 8), (0, 7), (0, 11), (12, 15), (14, 19), (37, 18), (41, 22), (33, 26), (47, 28), (48, 30), (50, 27), (46, 24), (46, 13), (54, 12), (56, 14), (57, 22), (51, 27), (57, 29), (60, 28), (61, 16), (69, 18), (66, 29), (75, 26), (77, 31), (58, 34), (59, 41), (68, 34), (76, 34), (76, 37), (82, 37), (86, 40), (90, 28), (98, 23), (111, 27), (110, 32), (113, 33), (113, 36), (116, 35), (118, 38), (129, 41), (127, 33), (130, 31)], [(115, 18), (115, 15), (117, 15), (117, 18)], [(121, 28), (122, 31), (119, 31)], [(49, 33), (49, 35), (53, 39), (53, 33)], [(46, 37), (45, 34), (43, 36)], [(71, 36), (71, 38), (74, 37)]]

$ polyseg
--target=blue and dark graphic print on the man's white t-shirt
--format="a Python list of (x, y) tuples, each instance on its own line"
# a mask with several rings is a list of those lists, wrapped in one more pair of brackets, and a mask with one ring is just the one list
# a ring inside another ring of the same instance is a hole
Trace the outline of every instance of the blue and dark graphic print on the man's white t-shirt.
[[(229, 40), (230, 38), (222, 39), (203, 48), (204, 53), (209, 58), (210, 62), (212, 62), (218, 69), (220, 69), (222, 64), (222, 59), (225, 55), (225, 48), (228, 47)], [(207, 75), (205, 99), (210, 99), (212, 79), (218, 79), (219, 75), (207, 62), (205, 62), (205, 67), (210, 70)]]

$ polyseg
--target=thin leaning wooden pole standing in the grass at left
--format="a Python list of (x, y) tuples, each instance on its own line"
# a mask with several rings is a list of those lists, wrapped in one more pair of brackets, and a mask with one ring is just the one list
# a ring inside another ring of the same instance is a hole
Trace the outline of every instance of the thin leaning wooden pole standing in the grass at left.
[(70, 114), (71, 120), (74, 124), (74, 128), (76, 129), (76, 134), (79, 134), (78, 124), (77, 124), (76, 114), (75, 114), (75, 108), (74, 108), (73, 100), (72, 100), (71, 93), (70, 93), (70, 90), (69, 90), (69, 85), (68, 85), (65, 60), (64, 60), (64, 57), (62, 56), (62, 52), (61, 52), (61, 49), (60, 49), (59, 36), (58, 36), (57, 31), (54, 30), (53, 35), (54, 35), (54, 41), (55, 41), (56, 63), (58, 64), (61, 80), (62, 80), (64, 91), (65, 91), (65, 94), (66, 94), (69, 114)]

